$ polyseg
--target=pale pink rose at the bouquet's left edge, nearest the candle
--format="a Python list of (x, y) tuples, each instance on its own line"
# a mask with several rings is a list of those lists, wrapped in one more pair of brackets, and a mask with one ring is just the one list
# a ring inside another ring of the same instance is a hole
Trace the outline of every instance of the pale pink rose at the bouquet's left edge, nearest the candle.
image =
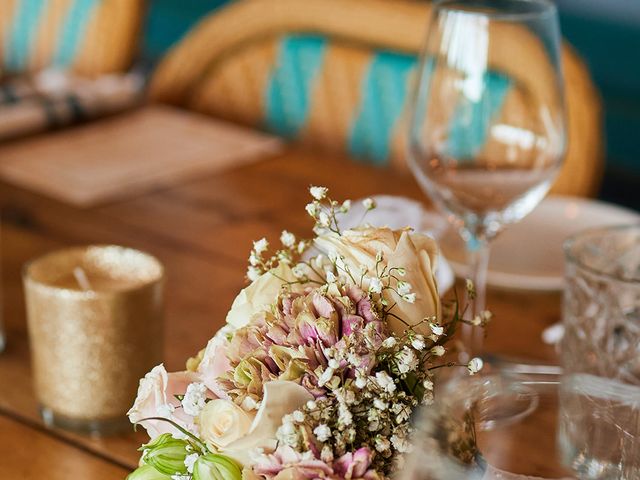
[[(180, 402), (174, 395), (183, 395), (190, 383), (197, 382), (198, 377), (192, 372), (167, 373), (160, 364), (140, 380), (138, 396), (127, 415), (131, 423), (138, 423), (143, 418), (164, 417), (180, 426), (191, 430), (194, 428), (193, 417), (182, 411)], [(162, 420), (146, 420), (140, 424), (147, 430), (151, 439), (163, 433), (176, 433), (176, 428)]]

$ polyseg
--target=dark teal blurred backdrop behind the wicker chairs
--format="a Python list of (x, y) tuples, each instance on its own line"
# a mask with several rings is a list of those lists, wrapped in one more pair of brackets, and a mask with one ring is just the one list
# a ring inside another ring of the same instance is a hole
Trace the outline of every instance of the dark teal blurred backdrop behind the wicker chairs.
[[(142, 58), (158, 61), (199, 21), (233, 0), (152, 0)], [(640, 209), (640, 2), (557, 0), (565, 39), (578, 51), (604, 108), (606, 162), (598, 197)]]

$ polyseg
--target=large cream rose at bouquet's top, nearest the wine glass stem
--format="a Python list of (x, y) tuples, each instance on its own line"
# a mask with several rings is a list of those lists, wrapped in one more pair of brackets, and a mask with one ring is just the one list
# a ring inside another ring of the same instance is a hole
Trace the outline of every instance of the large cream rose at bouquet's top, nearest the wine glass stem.
[[(393, 313), (411, 323), (425, 317), (440, 316), (440, 296), (435, 278), (435, 261), (438, 247), (435, 240), (425, 235), (411, 233), (409, 230), (391, 230), (390, 228), (361, 227), (346, 230), (342, 235), (328, 233), (315, 240), (316, 246), (325, 254), (335, 252), (344, 257), (345, 264), (354, 272), (361, 267), (375, 274), (376, 255), (383, 255), (388, 267), (402, 267), (406, 274), (402, 280), (411, 284), (416, 294), (414, 303), (409, 303), (395, 292), (384, 291), (390, 304), (396, 303)], [(390, 316), (392, 331), (401, 334), (406, 325)], [(427, 333), (424, 327), (423, 333)]]

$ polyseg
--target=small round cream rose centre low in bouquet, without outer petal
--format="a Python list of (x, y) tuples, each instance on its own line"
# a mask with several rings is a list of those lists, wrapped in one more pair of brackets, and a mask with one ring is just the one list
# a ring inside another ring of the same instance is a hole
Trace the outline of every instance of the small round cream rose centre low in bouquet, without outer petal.
[(230, 400), (211, 400), (200, 412), (200, 435), (207, 445), (224, 449), (244, 437), (253, 416)]

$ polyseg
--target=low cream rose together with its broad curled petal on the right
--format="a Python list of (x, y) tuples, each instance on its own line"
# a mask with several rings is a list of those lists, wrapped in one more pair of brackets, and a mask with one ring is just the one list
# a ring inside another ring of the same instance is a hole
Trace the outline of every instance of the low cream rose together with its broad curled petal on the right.
[(265, 383), (263, 395), (260, 409), (248, 427), (246, 419), (251, 416), (240, 407), (226, 400), (222, 400), (225, 406), (209, 407), (216, 400), (209, 402), (200, 414), (202, 438), (241, 465), (251, 463), (251, 454), (256, 448), (265, 452), (275, 450), (276, 431), (282, 417), (302, 408), (313, 396), (297, 383), (283, 380)]

